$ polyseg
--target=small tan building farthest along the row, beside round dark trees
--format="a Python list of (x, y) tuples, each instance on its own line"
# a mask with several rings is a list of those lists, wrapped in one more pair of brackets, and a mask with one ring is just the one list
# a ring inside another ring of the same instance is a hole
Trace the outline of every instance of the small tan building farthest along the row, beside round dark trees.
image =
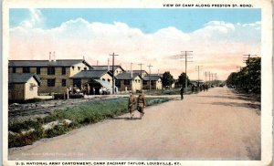
[(152, 89), (162, 89), (162, 78), (158, 75), (148, 75), (142, 78), (142, 89), (150, 89), (150, 80)]

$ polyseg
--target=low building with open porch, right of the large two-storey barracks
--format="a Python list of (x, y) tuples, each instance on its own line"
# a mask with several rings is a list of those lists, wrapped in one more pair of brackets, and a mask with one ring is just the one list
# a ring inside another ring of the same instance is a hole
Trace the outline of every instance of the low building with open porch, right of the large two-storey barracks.
[[(70, 77), (70, 84), (80, 88), (90, 86), (88, 94), (100, 94), (100, 88), (112, 92), (112, 75), (110, 71), (104, 69), (82, 70)], [(95, 92), (93, 93), (93, 88)]]

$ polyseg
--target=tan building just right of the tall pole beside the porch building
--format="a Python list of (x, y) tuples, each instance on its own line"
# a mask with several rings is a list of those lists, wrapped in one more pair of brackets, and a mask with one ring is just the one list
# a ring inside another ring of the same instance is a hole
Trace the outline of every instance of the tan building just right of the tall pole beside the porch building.
[(141, 90), (142, 78), (138, 73), (121, 73), (116, 76), (116, 87), (120, 91), (131, 90), (135, 92), (136, 90)]

